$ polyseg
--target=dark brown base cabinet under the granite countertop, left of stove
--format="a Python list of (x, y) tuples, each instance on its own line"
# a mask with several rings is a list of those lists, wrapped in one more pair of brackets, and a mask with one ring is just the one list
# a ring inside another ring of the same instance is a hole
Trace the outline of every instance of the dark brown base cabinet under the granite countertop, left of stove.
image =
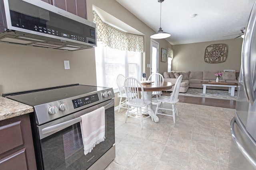
[(0, 121), (0, 170), (36, 170), (29, 114)]

